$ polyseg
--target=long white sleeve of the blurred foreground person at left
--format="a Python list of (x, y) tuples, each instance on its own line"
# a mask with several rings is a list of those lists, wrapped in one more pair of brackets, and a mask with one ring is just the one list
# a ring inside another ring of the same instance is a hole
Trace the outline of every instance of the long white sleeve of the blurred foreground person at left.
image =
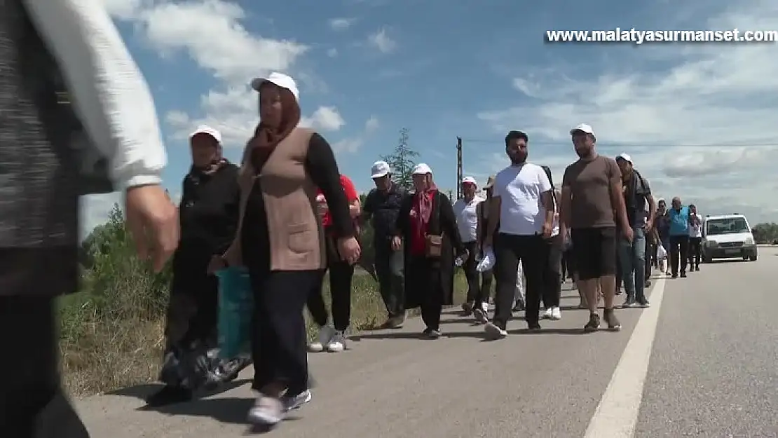
[(100, 0), (23, 0), (89, 137), (122, 189), (159, 184), (167, 155), (149, 86)]

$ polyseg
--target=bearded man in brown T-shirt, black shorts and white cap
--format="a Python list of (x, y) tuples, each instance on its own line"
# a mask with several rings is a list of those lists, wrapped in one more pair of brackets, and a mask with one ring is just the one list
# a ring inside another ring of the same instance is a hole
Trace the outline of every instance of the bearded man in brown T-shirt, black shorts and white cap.
[(605, 322), (611, 330), (621, 323), (613, 313), (616, 274), (616, 224), (632, 240), (622, 193), (622, 173), (614, 159), (594, 151), (594, 131), (588, 124), (570, 130), (578, 161), (567, 166), (562, 177), (562, 233), (571, 233), (578, 288), (590, 311), (584, 330), (600, 328), (597, 290), (605, 296)]

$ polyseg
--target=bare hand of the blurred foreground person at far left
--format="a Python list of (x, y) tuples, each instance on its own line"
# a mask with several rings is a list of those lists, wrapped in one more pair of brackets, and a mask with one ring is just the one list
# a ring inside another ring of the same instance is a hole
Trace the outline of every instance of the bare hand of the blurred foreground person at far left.
[(159, 184), (152, 184), (128, 188), (124, 212), (138, 257), (152, 259), (154, 271), (162, 271), (178, 246), (178, 209)]

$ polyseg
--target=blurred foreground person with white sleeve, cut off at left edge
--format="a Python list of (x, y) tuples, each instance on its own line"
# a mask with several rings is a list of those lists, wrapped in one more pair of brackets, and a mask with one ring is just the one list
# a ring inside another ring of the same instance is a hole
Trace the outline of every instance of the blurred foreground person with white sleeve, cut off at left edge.
[[(61, 390), (57, 296), (78, 288), (79, 195), (122, 190), (138, 254), (178, 243), (149, 87), (103, 2), (0, 2), (0, 435), (89, 436)], [(115, 184), (115, 185), (114, 185)]]

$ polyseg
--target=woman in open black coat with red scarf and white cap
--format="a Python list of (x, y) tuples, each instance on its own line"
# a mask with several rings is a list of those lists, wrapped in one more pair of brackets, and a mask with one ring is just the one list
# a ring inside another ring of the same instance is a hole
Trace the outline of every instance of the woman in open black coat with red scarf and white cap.
[(440, 338), (440, 313), (454, 302), (454, 262), (467, 257), (454, 208), (424, 163), (413, 168), (415, 194), (403, 201), (392, 246), (405, 251), (405, 308), (421, 307), (423, 334)]

